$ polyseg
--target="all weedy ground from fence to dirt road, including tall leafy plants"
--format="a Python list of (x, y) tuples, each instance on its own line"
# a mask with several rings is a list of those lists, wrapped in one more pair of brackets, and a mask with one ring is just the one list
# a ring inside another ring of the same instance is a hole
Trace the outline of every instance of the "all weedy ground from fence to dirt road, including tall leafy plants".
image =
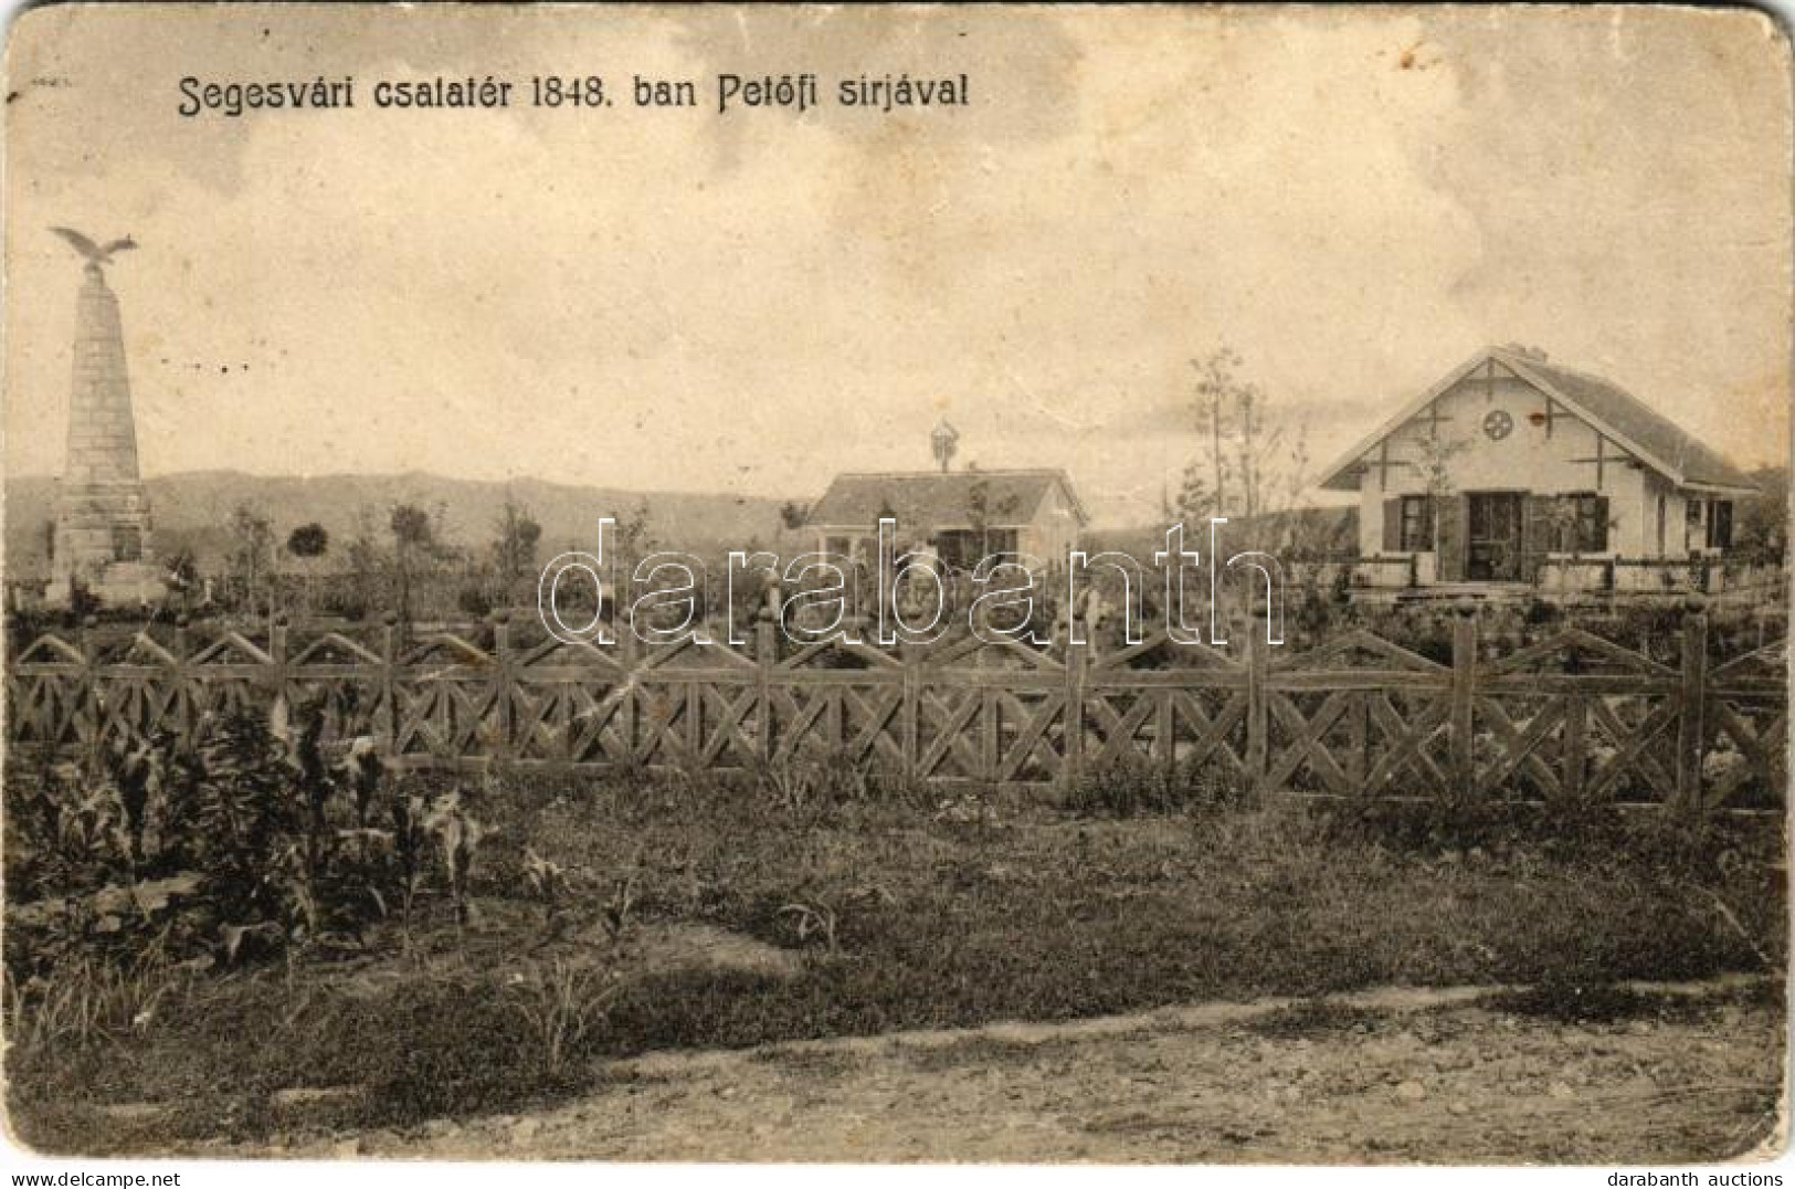
[(1192, 767), (1050, 803), (835, 754), (397, 772), (307, 708), (5, 779), (11, 1117), (52, 1151), (517, 1112), (652, 1049), (1380, 984), (1626, 1009), (1630, 979), (1786, 961), (1781, 837), (1734, 819), (1253, 801)]

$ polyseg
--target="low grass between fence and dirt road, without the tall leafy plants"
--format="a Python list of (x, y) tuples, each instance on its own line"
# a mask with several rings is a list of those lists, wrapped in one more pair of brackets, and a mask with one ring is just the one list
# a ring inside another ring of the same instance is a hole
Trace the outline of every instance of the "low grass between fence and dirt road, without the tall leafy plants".
[(508, 776), (474, 803), (465, 923), (433, 891), (355, 945), (77, 954), (13, 988), (13, 1130), (97, 1153), (397, 1126), (655, 1049), (1380, 984), (1524, 984), (1511, 1009), (1576, 1018), (1624, 1011), (1621, 979), (1786, 961), (1773, 826), (941, 796)]

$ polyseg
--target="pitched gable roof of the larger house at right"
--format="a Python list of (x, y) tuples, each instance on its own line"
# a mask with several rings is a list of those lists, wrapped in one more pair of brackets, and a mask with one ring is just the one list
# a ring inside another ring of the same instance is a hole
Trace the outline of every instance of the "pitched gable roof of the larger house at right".
[(1495, 359), (1522, 381), (1580, 415), (1678, 487), (1757, 490), (1750, 476), (1721, 458), (1720, 453), (1614, 381), (1558, 363), (1547, 363), (1544, 357), (1508, 347), (1492, 347), (1479, 352), (1438, 384), (1404, 404), (1395, 417), (1323, 471), (1319, 485), (1332, 490), (1352, 490), (1355, 487), (1353, 469), (1364, 458), (1366, 451), (1395, 433), (1447, 388), (1452, 388), (1490, 359)]

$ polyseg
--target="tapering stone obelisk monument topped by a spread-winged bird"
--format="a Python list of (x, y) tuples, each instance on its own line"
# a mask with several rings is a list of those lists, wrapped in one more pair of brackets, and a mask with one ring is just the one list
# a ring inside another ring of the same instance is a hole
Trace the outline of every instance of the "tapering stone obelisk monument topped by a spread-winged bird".
[(106, 286), (111, 253), (129, 239), (97, 246), (54, 228), (86, 259), (75, 298), (74, 383), (68, 392), (68, 460), (56, 499), (52, 603), (75, 589), (108, 605), (160, 600), (165, 587), (149, 553), (149, 499), (136, 469), (136, 422), (124, 359), (118, 298)]

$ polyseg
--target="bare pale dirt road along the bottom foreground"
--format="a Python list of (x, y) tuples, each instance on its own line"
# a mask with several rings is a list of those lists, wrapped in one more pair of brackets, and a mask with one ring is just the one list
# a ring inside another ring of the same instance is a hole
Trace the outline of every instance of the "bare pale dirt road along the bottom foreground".
[[(603, 1160), (1711, 1162), (1772, 1133), (1781, 1018), (1707, 984), (1558, 1024), (1481, 991), (653, 1054), (553, 1112), (287, 1155)], [(266, 1149), (264, 1149), (266, 1151)]]

